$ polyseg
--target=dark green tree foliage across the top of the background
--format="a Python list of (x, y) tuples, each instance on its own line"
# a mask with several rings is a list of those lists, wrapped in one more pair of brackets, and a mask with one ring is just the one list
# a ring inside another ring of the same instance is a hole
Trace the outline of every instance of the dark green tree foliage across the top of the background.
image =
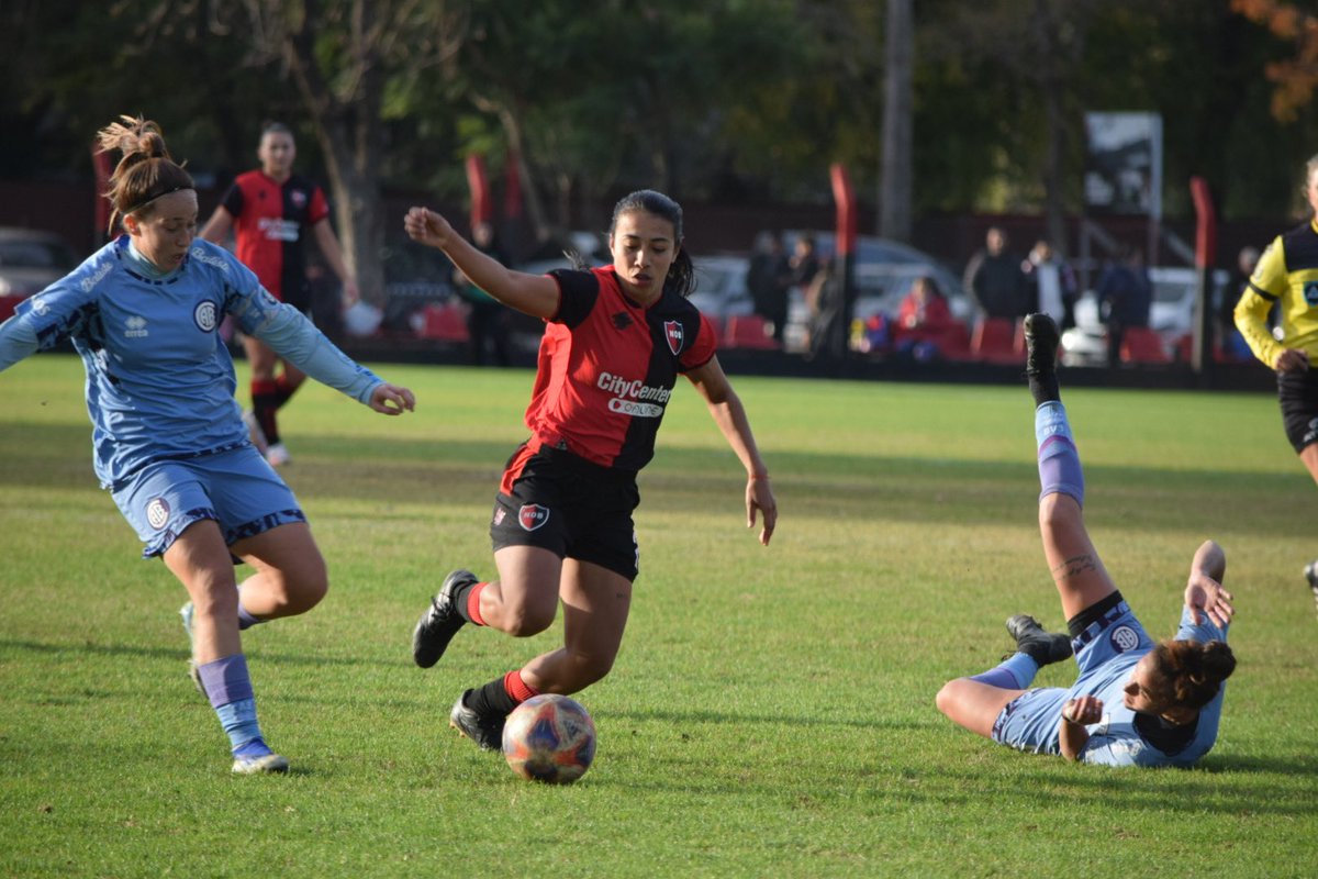
[[(0, 11), (0, 146), (16, 177), (90, 175), (91, 133), (120, 112), (162, 123), (200, 173), (252, 161), (253, 132), (311, 116), (278, 43), (260, 42), (301, 4), (20, 0)], [(568, 223), (581, 204), (638, 184), (683, 199), (826, 200), (826, 165), (846, 162), (862, 194), (878, 179), (882, 4), (718, 0), (588, 9), (568, 0), (368, 4), (381, 38), (366, 66), (391, 186), (465, 195), (461, 159), (521, 138), (531, 184)], [(353, 5), (314, 5), (319, 69), (335, 94), (360, 83)], [(254, 25), (252, 14), (260, 16)], [(1209, 179), (1226, 219), (1296, 206), (1313, 152), (1314, 105), (1269, 115), (1269, 62), (1293, 45), (1224, 0), (927, 0), (916, 9), (915, 211), (1043, 210), (1061, 105), (1062, 200), (1082, 210), (1083, 113), (1164, 116), (1165, 208), (1190, 211), (1185, 181)], [(1049, 17), (1053, 42), (1039, 24)], [(345, 115), (374, 112), (361, 101)], [(304, 130), (311, 134), (312, 130)], [(324, 179), (320, 144), (303, 166)], [(365, 161), (369, 157), (358, 157)]]

